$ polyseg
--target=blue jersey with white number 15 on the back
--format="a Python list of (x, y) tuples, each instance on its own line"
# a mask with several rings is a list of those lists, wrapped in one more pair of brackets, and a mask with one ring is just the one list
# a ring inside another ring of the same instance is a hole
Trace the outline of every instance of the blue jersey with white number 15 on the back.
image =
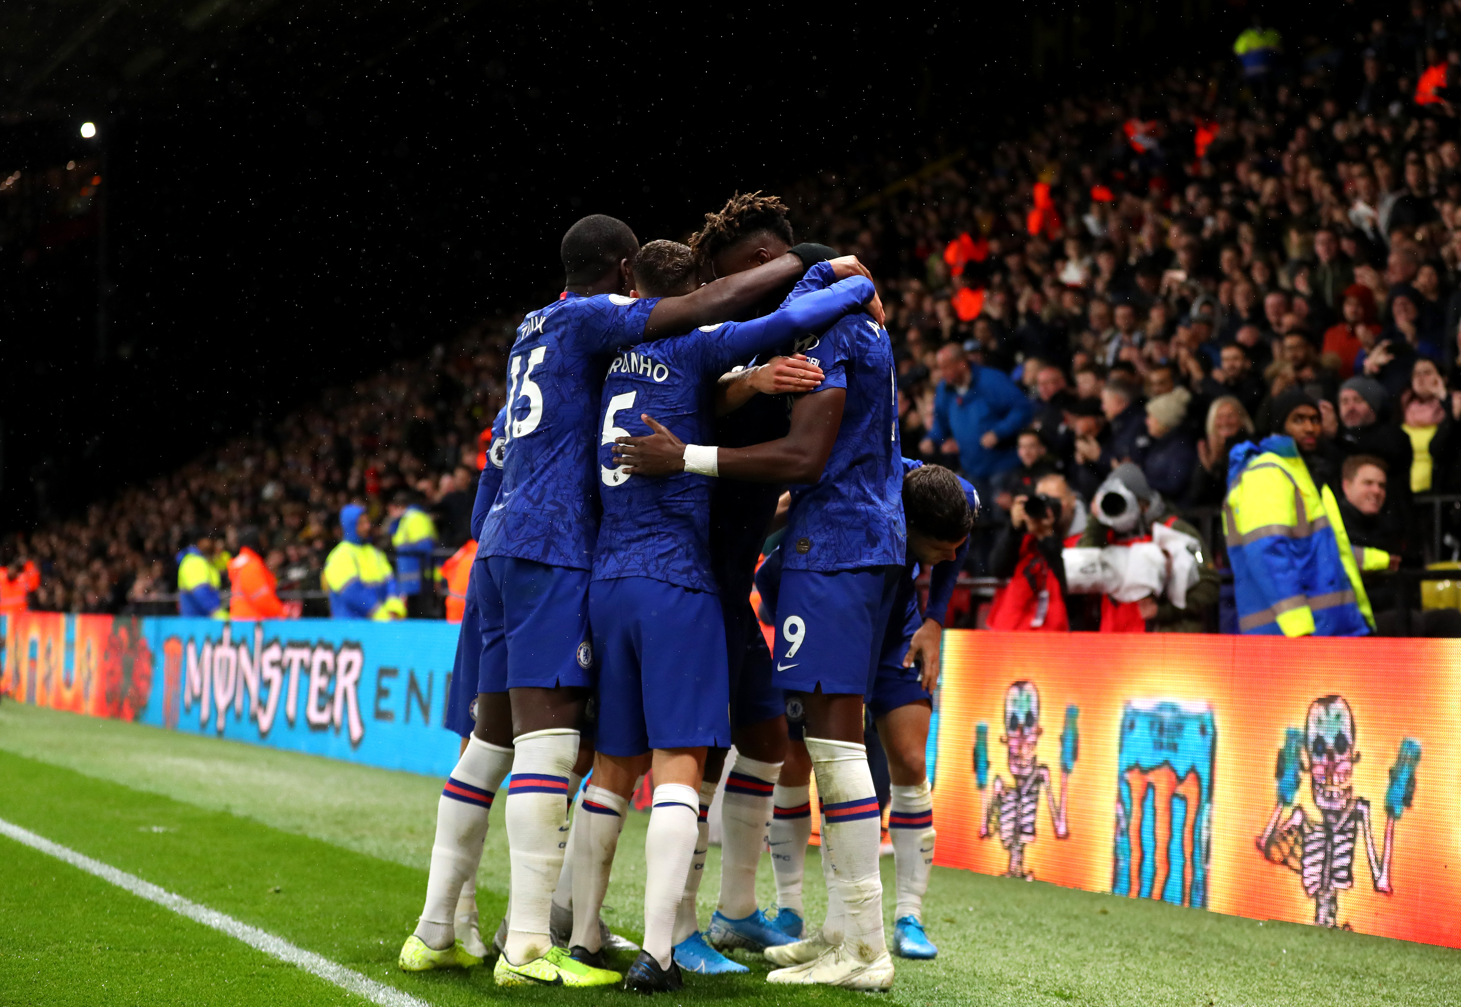
[(478, 555), (593, 569), (603, 371), (615, 348), (643, 339), (657, 303), (565, 291), (517, 326), (507, 361), (503, 485)]

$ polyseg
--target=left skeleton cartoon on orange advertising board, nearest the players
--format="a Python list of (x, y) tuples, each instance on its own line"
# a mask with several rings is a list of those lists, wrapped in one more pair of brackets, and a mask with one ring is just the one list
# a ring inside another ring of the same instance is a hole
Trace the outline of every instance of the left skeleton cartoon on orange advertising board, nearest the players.
[[(1050, 783), (1050, 767), (1039, 760), (1037, 748), (1045, 728), (1040, 726), (1040, 693), (1030, 681), (1017, 681), (1005, 690), (1004, 721), (1005, 734), (999, 742), (1008, 751), (1010, 782), (998, 773), (989, 788), (989, 729), (976, 726), (974, 779), (979, 783), (982, 818), (979, 837), (988, 839), (998, 832), (999, 845), (1010, 854), (1010, 877), (1033, 878), (1026, 868), (1024, 849), (1036, 839), (1036, 818), (1040, 813), (1040, 791), (1045, 791), (1050, 808), (1050, 824), (1055, 837), (1065, 839), (1069, 829), (1065, 824), (1065, 795), (1071, 770), (1080, 753), (1077, 718), (1080, 710), (1065, 707), (1065, 731), (1061, 734), (1061, 794), (1055, 795)], [(985, 795), (985, 789), (991, 794)]]

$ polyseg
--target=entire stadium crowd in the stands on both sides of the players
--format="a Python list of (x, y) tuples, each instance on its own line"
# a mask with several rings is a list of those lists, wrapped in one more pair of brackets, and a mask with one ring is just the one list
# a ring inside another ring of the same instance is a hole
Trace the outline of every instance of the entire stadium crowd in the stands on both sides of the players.
[[(1281, 428), (1293, 393), (1319, 411), (1315, 481), (1354, 545), (1443, 558), (1423, 550), (1416, 497), (1461, 490), (1461, 3), (1334, 7), (1324, 41), (1284, 50), (1254, 29), (1237, 60), (1068, 96), (1024, 139), (783, 193), (799, 237), (880, 282), (904, 453), (985, 501), (972, 573), (1029, 569), (1034, 532), (1053, 577), (1036, 593), (1067, 595), (1059, 548), (1118, 536), (1090, 510), (1112, 479), (1137, 532), (1201, 541), (1186, 607), (1072, 602), (1072, 627), (1124, 605), (1156, 628), (1214, 626), (1229, 459)], [(281, 592), (317, 590), (340, 506), (367, 501), (378, 528), (402, 491), (454, 548), (510, 336), (475, 327), (0, 558), (38, 564), (37, 608), (114, 612), (169, 596), (199, 535), (251, 526)]]

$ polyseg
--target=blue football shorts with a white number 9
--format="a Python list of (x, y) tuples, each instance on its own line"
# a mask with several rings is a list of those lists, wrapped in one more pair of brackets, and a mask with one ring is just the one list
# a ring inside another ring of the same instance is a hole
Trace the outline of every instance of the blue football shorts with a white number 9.
[(771, 681), (798, 693), (871, 693), (901, 574), (901, 566), (783, 570)]

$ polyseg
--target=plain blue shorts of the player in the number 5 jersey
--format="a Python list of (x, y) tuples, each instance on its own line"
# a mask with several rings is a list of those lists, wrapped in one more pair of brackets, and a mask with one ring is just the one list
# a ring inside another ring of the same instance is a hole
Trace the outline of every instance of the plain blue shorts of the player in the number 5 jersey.
[(652, 577), (615, 577), (590, 585), (589, 611), (599, 655), (599, 751), (627, 757), (730, 747), (719, 596)]

